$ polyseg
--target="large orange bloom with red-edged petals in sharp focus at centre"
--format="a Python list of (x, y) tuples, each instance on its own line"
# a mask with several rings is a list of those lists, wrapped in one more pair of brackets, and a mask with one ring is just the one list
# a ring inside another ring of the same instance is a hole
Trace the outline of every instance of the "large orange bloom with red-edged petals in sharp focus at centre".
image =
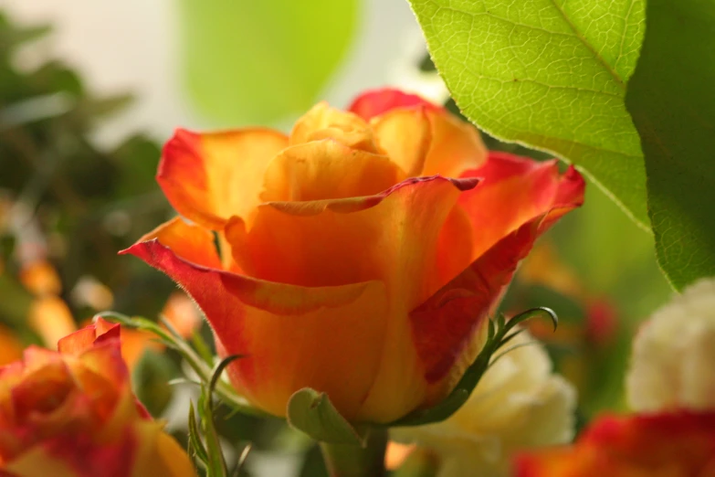
[(125, 253), (194, 297), (220, 355), (245, 355), (227, 370), (237, 390), (284, 416), (312, 387), (373, 422), (447, 395), (519, 261), (584, 196), (573, 168), (488, 154), (473, 126), (397, 90), (320, 103), (289, 135), (179, 130), (157, 180), (192, 223)]

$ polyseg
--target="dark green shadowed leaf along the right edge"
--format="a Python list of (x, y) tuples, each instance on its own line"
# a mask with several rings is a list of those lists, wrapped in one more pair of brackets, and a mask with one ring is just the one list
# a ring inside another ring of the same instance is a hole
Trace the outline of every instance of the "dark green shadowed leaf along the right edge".
[(682, 289), (715, 275), (715, 3), (648, 0), (626, 105), (646, 156), (657, 259)]

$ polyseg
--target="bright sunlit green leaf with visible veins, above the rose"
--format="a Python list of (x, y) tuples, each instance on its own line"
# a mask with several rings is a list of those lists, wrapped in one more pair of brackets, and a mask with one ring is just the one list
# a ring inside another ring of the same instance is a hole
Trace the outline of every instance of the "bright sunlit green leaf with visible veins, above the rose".
[(647, 227), (645, 167), (624, 103), (644, 0), (410, 2), (472, 122), (577, 164)]

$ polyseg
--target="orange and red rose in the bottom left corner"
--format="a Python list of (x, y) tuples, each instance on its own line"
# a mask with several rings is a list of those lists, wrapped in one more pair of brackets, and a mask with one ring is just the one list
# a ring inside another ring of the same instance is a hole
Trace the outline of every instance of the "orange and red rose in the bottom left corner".
[(101, 319), (0, 368), (0, 475), (183, 477), (192, 464), (131, 393), (120, 328)]

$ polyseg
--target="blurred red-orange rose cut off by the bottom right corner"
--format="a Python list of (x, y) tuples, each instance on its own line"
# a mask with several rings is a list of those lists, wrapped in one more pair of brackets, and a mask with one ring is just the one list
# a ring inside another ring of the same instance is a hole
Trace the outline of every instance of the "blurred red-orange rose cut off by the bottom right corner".
[(571, 447), (521, 456), (518, 477), (712, 477), (715, 413), (598, 419)]

